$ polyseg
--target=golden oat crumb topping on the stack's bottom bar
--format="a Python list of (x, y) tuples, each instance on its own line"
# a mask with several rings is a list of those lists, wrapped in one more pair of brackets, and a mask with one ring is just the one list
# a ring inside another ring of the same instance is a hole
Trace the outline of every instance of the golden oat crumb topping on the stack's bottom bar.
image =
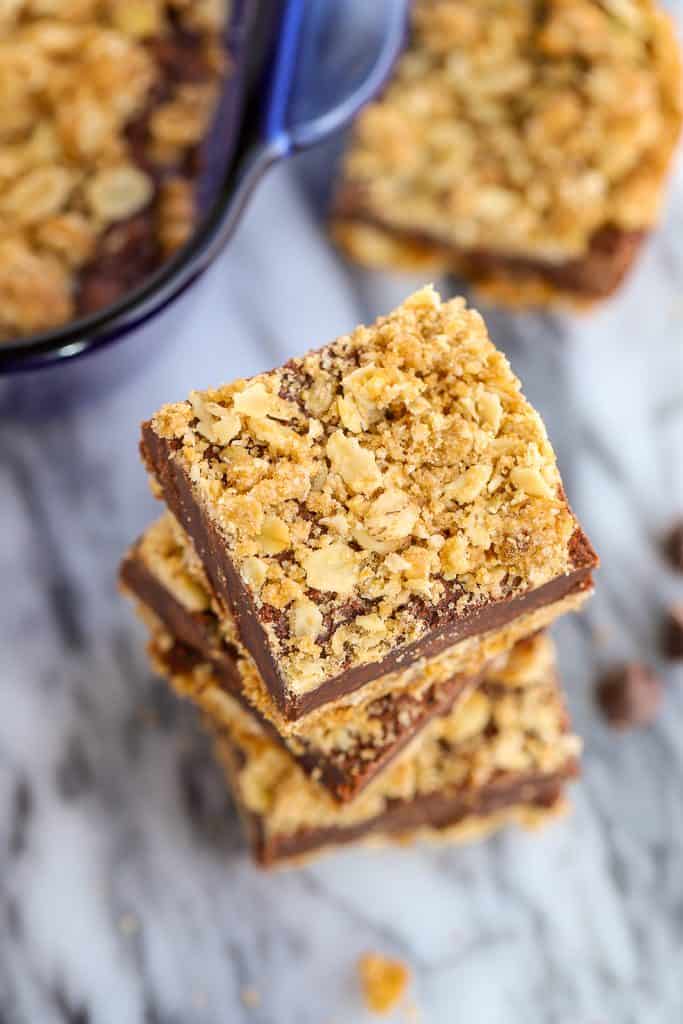
[(579, 756), (581, 741), (568, 730), (557, 679), (545, 666), (541, 657), (542, 675), (521, 687), (485, 681), (450, 715), (430, 722), (415, 748), (342, 806), (303, 774), (253, 716), (226, 698), (231, 717), (223, 723), (243, 761), (239, 799), (263, 818), (268, 835), (289, 834), (365, 821), (396, 800), (450, 788), (474, 792), (494, 780), (561, 771)]

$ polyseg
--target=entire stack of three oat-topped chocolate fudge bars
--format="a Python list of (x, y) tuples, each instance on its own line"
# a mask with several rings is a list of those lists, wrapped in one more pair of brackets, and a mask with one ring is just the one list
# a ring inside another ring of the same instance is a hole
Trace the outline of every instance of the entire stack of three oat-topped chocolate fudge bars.
[(168, 511), (122, 585), (205, 714), (254, 858), (469, 839), (563, 806), (544, 630), (597, 557), (482, 318), (431, 288), (143, 424)]

